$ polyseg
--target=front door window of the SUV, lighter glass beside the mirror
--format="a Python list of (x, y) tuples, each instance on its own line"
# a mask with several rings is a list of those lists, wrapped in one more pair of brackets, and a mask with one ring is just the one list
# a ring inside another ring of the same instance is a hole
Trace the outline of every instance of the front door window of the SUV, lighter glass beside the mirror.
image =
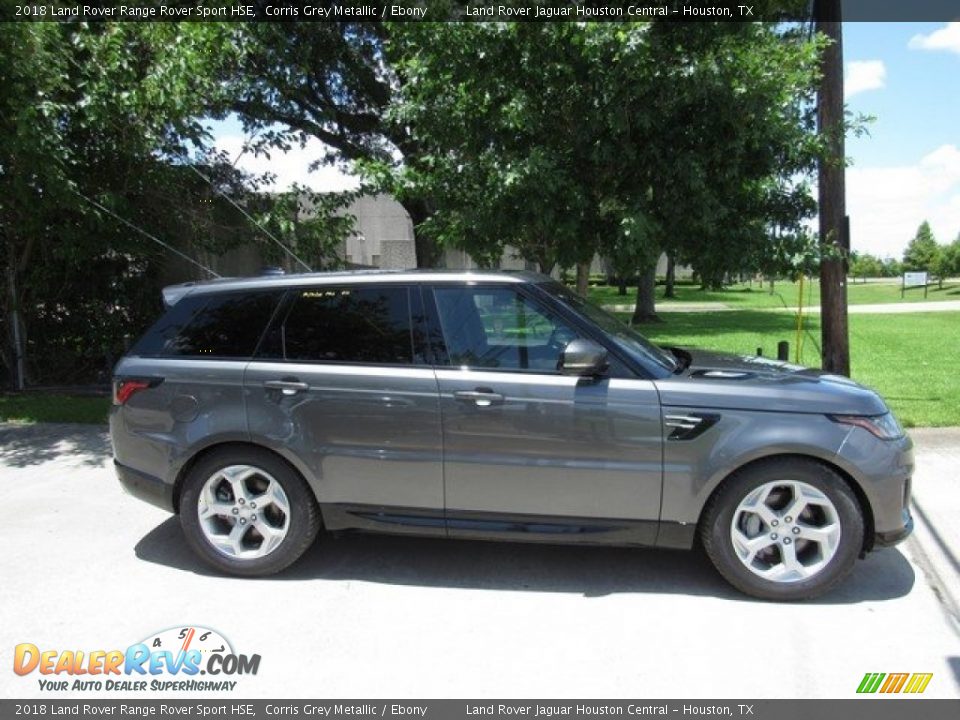
[(438, 287), (434, 295), (454, 366), (552, 373), (579, 336), (511, 287)]

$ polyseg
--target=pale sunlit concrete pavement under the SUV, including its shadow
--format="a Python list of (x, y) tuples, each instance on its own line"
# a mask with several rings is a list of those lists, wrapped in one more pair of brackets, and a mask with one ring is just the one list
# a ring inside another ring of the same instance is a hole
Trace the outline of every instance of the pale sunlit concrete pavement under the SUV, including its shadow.
[(0, 425), (0, 697), (43, 695), (10, 671), (17, 643), (200, 624), (262, 656), (233, 697), (848, 698), (866, 672), (932, 672), (926, 695), (958, 698), (960, 429), (913, 435), (915, 536), (783, 605), (696, 552), (352, 536), (274, 579), (218, 577), (122, 493), (99, 428)]

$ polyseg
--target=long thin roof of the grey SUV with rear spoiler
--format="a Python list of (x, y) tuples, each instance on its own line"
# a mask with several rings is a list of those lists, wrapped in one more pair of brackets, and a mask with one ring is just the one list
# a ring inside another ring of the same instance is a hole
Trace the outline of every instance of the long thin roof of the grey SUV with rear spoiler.
[(335, 285), (376, 283), (424, 283), (424, 282), (545, 282), (546, 275), (527, 270), (343, 270), (336, 272), (290, 273), (282, 275), (257, 275), (243, 278), (220, 278), (202, 282), (188, 282), (169, 285), (163, 289), (163, 301), (167, 306), (175, 305), (186, 295), (207, 292), (228, 292), (235, 290), (257, 290), (263, 288), (310, 287), (316, 285)]

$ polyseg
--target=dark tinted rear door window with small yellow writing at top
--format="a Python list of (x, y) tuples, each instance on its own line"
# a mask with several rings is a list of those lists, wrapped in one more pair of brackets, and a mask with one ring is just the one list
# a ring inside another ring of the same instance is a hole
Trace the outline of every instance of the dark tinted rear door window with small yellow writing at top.
[(298, 290), (260, 357), (295, 362), (408, 365), (413, 362), (406, 287)]

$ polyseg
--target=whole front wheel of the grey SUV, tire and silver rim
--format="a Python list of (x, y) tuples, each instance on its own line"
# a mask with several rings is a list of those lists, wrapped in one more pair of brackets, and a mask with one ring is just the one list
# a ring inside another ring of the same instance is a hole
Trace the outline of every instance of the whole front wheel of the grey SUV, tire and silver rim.
[(863, 511), (847, 483), (804, 458), (760, 462), (727, 478), (700, 526), (720, 574), (764, 600), (828, 592), (850, 574), (863, 536)]

